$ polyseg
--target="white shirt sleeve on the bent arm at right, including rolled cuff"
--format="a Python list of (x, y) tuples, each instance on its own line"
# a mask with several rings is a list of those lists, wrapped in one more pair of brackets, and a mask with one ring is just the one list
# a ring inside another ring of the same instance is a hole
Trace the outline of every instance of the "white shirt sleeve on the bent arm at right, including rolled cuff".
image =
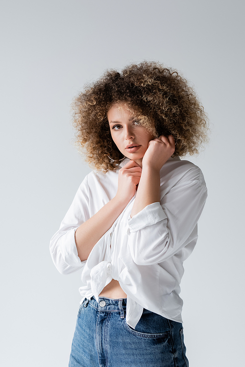
[(188, 171), (161, 202), (128, 218), (128, 245), (137, 265), (159, 264), (193, 241), (207, 198), (198, 167)]

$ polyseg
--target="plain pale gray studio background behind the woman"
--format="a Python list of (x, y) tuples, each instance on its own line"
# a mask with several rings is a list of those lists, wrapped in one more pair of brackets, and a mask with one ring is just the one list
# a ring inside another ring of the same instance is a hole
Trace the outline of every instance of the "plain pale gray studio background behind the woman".
[(209, 196), (182, 282), (190, 366), (242, 365), (244, 10), (241, 0), (2, 1), (1, 366), (68, 366), (80, 273), (58, 273), (49, 239), (90, 171), (70, 103), (105, 69), (144, 59), (191, 80), (211, 121), (191, 158)]

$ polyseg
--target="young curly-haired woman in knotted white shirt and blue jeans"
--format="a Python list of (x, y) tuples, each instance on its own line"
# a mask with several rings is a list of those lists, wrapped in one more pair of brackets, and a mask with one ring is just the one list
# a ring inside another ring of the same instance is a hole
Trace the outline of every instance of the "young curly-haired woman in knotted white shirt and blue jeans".
[(153, 62), (106, 72), (73, 107), (96, 170), (50, 242), (62, 274), (82, 270), (69, 366), (186, 367), (179, 285), (207, 191), (180, 156), (205, 140), (203, 108)]

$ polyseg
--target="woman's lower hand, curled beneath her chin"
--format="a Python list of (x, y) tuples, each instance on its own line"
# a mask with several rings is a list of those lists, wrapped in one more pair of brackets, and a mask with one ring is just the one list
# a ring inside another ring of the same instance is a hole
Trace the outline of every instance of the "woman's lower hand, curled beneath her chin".
[(140, 182), (141, 172), (142, 168), (135, 161), (129, 161), (119, 170), (117, 200), (123, 201), (125, 205), (129, 203)]

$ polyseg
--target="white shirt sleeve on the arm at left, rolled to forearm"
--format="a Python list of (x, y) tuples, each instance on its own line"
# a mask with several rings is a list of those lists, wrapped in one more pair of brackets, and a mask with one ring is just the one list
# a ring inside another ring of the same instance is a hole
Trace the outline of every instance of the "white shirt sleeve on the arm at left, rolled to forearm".
[(55, 267), (61, 274), (77, 271), (86, 263), (78, 257), (75, 231), (90, 218), (87, 176), (81, 183), (59, 230), (50, 241), (50, 254)]

